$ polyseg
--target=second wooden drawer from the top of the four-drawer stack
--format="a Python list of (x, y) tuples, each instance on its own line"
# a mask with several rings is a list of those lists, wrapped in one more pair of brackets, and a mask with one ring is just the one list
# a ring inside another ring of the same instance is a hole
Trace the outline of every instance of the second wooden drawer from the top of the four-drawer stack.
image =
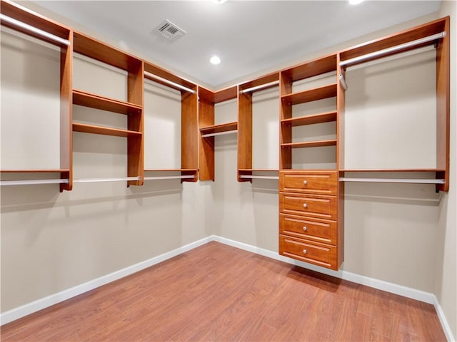
[(279, 211), (321, 219), (337, 219), (335, 196), (313, 196), (279, 193)]

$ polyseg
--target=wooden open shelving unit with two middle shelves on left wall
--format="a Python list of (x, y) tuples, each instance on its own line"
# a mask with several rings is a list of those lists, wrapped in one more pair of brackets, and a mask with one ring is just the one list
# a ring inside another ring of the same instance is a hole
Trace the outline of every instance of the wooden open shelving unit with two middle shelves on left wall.
[(109, 127), (73, 123), (73, 130), (76, 132), (126, 137), (128, 177), (139, 177), (139, 180), (129, 180), (127, 185), (143, 185), (143, 61), (79, 32), (74, 32), (73, 48), (76, 53), (81, 53), (81, 55), (93, 58), (96, 61), (127, 71), (127, 102), (73, 89), (73, 103), (75, 105), (83, 105), (89, 108), (127, 115), (127, 129), (119, 130)]

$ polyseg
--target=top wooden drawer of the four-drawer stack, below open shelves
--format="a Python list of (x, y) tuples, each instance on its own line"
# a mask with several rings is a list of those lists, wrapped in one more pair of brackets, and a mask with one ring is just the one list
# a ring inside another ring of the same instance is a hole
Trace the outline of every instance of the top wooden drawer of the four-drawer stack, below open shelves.
[(279, 172), (280, 191), (336, 195), (337, 187), (336, 171)]

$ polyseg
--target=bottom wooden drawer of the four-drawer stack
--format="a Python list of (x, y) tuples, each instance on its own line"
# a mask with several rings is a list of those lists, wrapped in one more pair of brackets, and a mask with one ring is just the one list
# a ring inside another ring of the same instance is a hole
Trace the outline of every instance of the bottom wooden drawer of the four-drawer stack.
[(279, 235), (279, 254), (329, 269), (338, 268), (336, 247), (326, 244)]

